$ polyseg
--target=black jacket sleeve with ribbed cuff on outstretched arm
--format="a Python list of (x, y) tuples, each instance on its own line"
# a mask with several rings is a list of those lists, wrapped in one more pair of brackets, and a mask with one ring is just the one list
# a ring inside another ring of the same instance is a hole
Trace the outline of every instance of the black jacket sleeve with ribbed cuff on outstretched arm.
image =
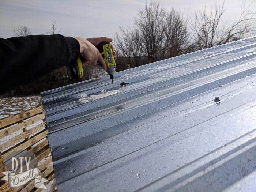
[(75, 38), (59, 34), (0, 38), (0, 94), (75, 62), (79, 53)]

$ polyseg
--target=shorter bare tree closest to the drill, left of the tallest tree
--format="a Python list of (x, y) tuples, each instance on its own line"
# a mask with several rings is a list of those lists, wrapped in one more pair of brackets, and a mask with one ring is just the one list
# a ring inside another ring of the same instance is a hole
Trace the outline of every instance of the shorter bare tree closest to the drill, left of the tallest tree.
[[(142, 38), (138, 29), (125, 31), (120, 27), (120, 34), (116, 34), (116, 49), (118, 57), (123, 57), (118, 67), (124, 69), (141, 65), (143, 55)], [(124, 66), (123, 66), (124, 65)], [(125, 66), (127, 66), (125, 68)]]

